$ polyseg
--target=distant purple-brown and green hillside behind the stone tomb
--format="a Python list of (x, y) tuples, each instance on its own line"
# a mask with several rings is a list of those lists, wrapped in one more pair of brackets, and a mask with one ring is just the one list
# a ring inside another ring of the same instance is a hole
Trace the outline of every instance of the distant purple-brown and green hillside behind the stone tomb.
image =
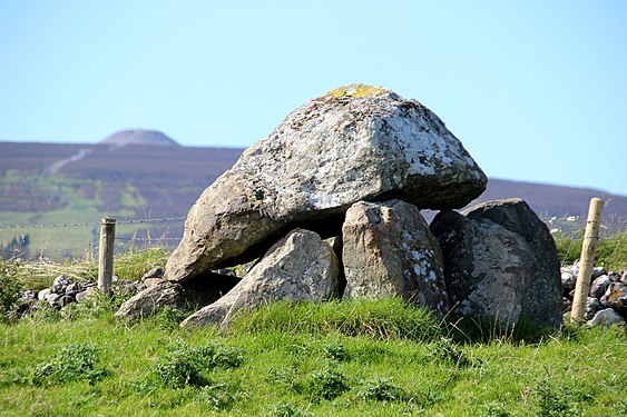
[[(143, 137), (154, 138), (157, 143), (166, 140), (154, 133)], [(0, 142), (0, 227), (85, 224), (67, 228), (0, 228), (0, 249), (12, 241), (19, 246), (28, 235), (30, 257), (80, 256), (96, 246), (97, 222), (104, 216), (118, 220), (184, 217), (203, 190), (233, 166), (243, 151), (182, 147), (174, 141), (155, 146), (150, 139), (149, 145), (123, 142), (124, 146), (118, 140), (97, 145)], [(585, 218), (589, 199), (601, 197), (608, 201), (604, 211), (606, 222), (627, 218), (625, 196), (503, 179), (491, 179), (477, 201), (507, 197), (526, 199), (547, 218)], [(183, 221), (155, 222), (149, 227), (120, 225), (117, 235), (120, 245), (134, 238), (139, 241), (160, 237), (175, 245), (183, 235)]]

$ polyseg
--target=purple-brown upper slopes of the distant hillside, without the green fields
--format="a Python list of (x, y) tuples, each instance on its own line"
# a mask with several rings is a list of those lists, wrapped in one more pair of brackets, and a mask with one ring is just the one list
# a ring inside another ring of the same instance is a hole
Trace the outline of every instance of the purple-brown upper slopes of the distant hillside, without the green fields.
[[(85, 149), (89, 151), (80, 159), (62, 165), (59, 173), (110, 183), (133, 183), (147, 206), (138, 208), (138, 215), (150, 211), (155, 217), (185, 216), (200, 192), (243, 152), (235, 148), (0, 142), (0, 173), (8, 169), (43, 173), (56, 161), (71, 159)], [(115, 187), (107, 192), (108, 207), (115, 207), (119, 197)], [(624, 221), (627, 218), (627, 197), (587, 188), (490, 179), (487, 191), (477, 201), (508, 197), (523, 198), (545, 217), (582, 218), (589, 199), (600, 197), (607, 202), (605, 219)], [(1, 210), (7, 208), (2, 208), (0, 201)]]

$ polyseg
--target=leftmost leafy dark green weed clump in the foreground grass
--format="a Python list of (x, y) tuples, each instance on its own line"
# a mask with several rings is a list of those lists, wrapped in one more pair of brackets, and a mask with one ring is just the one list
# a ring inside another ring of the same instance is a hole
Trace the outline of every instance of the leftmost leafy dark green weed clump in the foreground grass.
[(108, 375), (106, 369), (98, 367), (98, 350), (89, 344), (68, 345), (52, 361), (36, 367), (33, 381), (40, 385), (46, 381), (68, 383), (85, 379), (94, 385)]

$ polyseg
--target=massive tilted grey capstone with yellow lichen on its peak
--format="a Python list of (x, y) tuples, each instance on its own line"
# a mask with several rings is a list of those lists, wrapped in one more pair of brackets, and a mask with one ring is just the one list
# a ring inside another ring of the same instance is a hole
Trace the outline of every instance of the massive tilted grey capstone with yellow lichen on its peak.
[(184, 281), (243, 264), (295, 225), (337, 235), (359, 200), (460, 208), (486, 183), (461, 142), (420, 102), (368, 86), (340, 88), (290, 113), (203, 192), (166, 277)]

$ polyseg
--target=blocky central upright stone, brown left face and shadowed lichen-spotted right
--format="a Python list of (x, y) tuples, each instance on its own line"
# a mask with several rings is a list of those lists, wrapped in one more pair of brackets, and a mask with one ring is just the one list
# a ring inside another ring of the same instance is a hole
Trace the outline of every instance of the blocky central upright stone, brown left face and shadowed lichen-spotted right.
[(344, 297), (399, 296), (448, 312), (443, 258), (414, 205), (402, 200), (354, 203), (342, 226)]

